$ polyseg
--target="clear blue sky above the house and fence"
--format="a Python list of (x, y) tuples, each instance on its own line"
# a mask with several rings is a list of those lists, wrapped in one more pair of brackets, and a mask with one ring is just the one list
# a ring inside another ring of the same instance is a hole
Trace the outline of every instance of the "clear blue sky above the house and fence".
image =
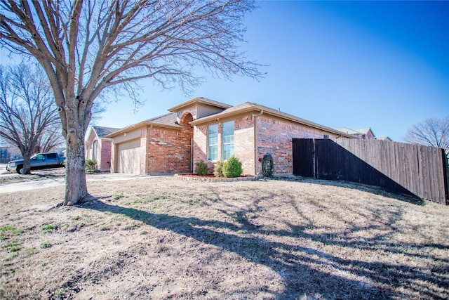
[(243, 49), (268, 65), (260, 82), (208, 78), (190, 96), (144, 81), (137, 114), (109, 105), (98, 125), (163, 115), (195, 96), (280, 108), (330, 127), (371, 127), (401, 141), (429, 117), (449, 115), (449, 1), (257, 1)]

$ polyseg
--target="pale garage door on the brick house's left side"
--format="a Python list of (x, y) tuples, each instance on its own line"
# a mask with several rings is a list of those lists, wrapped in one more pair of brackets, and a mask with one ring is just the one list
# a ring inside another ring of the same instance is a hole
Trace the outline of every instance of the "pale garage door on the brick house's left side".
[(119, 144), (117, 153), (117, 172), (126, 174), (140, 174), (140, 139)]

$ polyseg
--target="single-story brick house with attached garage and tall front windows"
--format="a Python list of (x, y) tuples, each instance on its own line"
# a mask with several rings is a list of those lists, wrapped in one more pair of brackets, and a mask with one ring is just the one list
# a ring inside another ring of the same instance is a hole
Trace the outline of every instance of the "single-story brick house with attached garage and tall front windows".
[(270, 153), (275, 174), (292, 174), (292, 138), (356, 138), (256, 103), (227, 105), (193, 98), (170, 113), (114, 131), (111, 171), (130, 174), (188, 173), (196, 162), (210, 171), (235, 155), (243, 174), (261, 173)]

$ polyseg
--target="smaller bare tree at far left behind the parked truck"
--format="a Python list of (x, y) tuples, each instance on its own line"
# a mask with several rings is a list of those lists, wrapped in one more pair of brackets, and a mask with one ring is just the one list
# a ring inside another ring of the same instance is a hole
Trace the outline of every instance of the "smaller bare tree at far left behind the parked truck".
[(30, 174), (29, 158), (36, 148), (61, 140), (59, 124), (46, 74), (31, 65), (8, 70), (0, 65), (0, 136), (20, 149), (22, 174)]

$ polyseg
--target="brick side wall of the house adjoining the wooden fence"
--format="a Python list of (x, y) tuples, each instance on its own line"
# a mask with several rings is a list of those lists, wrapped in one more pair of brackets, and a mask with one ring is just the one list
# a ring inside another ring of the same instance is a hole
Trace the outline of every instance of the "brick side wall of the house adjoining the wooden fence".
[[(337, 137), (333, 133), (266, 115), (257, 117), (256, 124), (257, 158), (271, 153), (275, 174), (293, 173), (292, 138), (323, 138), (324, 135), (329, 138)], [(257, 162), (257, 173), (262, 173), (260, 162)]]

